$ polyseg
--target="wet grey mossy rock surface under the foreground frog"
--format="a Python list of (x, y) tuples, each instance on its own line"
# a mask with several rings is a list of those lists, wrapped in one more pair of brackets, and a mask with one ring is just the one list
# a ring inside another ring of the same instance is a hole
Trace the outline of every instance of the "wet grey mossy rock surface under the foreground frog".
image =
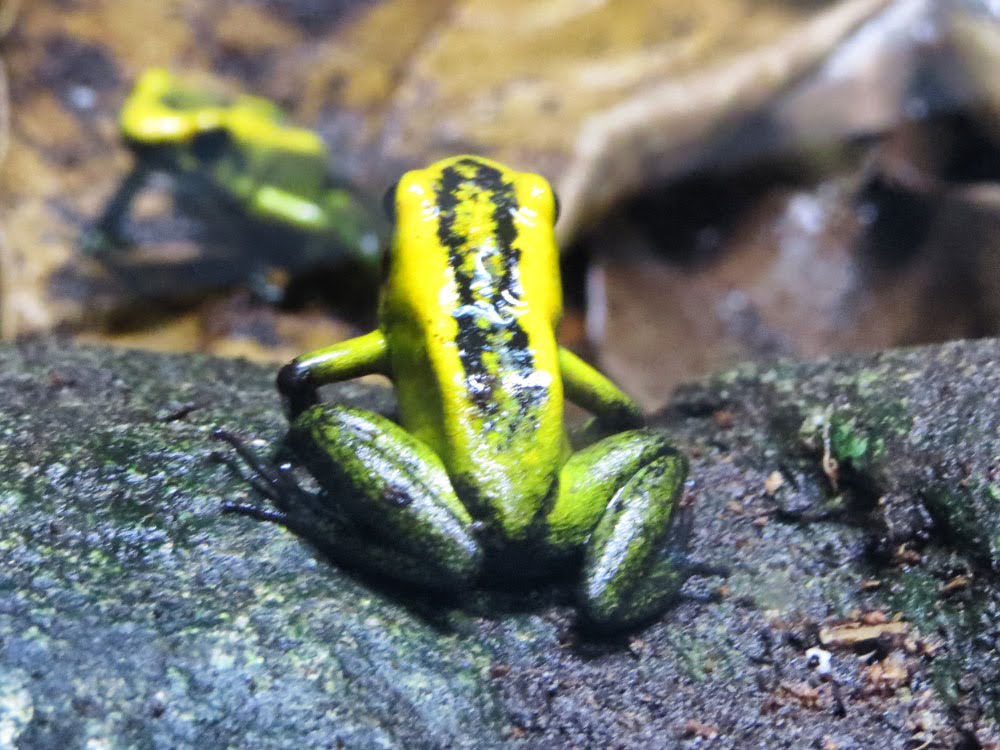
[[(653, 423), (692, 458), (694, 553), (731, 575), (596, 638), (565, 582), (445, 602), (222, 514), (249, 493), (211, 431), (279, 438), (271, 368), (5, 346), (0, 737), (993, 746), (998, 359), (985, 340), (681, 389)], [(375, 386), (326, 395), (391, 408)]]

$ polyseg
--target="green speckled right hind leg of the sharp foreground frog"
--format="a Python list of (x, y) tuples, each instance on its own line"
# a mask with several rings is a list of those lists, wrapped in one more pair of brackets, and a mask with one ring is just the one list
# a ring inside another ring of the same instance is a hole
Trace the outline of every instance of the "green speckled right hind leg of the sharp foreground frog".
[(662, 611), (690, 571), (668, 549), (688, 463), (652, 430), (630, 430), (572, 455), (549, 513), (549, 546), (584, 549), (580, 609), (600, 629)]

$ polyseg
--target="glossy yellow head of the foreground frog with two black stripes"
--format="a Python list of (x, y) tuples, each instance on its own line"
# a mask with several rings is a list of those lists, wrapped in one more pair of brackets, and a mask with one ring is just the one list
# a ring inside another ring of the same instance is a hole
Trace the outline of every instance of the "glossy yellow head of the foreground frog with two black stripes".
[(385, 208), (395, 225), (390, 293), (439, 289), (442, 272), (498, 294), (515, 292), (516, 279), (524, 304), (558, 319), (558, 204), (544, 177), (481, 156), (453, 156), (404, 174), (386, 193)]

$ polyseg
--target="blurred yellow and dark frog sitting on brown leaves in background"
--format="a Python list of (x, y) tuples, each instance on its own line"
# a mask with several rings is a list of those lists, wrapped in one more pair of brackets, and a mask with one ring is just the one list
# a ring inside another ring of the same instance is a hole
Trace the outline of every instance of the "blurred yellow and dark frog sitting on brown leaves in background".
[(85, 251), (106, 256), (127, 247), (133, 200), (151, 174), (166, 173), (188, 203), (243, 225), (237, 242), (246, 276), (344, 260), (377, 267), (381, 222), (332, 177), (322, 139), (290, 125), (273, 102), (153, 68), (125, 100), (119, 128), (134, 165), (86, 232)]

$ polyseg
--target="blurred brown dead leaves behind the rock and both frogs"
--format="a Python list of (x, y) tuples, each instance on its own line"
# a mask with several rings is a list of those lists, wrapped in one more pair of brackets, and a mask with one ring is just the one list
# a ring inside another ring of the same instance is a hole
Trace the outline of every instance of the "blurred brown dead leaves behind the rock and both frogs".
[(561, 335), (650, 408), (743, 359), (996, 334), (998, 14), (7, 0), (0, 334), (280, 361), (372, 325), (374, 283), (349, 254), (304, 270), (268, 255), (283, 291), (267, 299), (247, 269), (271, 240), (169, 174), (137, 196), (127, 251), (81, 252), (133, 165), (118, 111), (154, 66), (273, 101), (366, 205), (457, 152), (545, 174), (562, 204)]

